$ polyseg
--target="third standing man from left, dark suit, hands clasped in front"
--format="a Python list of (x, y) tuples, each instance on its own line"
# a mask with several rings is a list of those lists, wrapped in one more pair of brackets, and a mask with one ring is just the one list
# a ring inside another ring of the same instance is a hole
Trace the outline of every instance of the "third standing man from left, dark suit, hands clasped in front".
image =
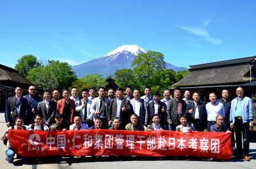
[(54, 117), (57, 109), (57, 102), (50, 100), (50, 96), (50, 91), (43, 91), (43, 98), (45, 100), (39, 102), (37, 105), (38, 113), (41, 114), (47, 126), (55, 122)]

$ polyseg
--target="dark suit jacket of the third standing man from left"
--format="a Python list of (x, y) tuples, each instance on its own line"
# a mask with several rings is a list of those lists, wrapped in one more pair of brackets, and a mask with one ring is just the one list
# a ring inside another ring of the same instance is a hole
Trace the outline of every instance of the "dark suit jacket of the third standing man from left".
[(42, 118), (49, 123), (49, 125), (55, 123), (55, 113), (57, 109), (57, 103), (49, 101), (48, 109), (46, 108), (45, 101), (41, 101), (37, 105), (38, 113), (41, 114)]

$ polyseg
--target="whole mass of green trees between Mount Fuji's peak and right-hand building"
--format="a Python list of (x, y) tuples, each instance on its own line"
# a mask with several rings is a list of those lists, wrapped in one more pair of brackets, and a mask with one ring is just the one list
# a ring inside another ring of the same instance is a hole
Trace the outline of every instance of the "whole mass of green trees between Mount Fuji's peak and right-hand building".
[(166, 69), (163, 54), (155, 51), (139, 54), (131, 65), (133, 69), (115, 71), (114, 80), (118, 86), (125, 88), (131, 85), (141, 90), (145, 86), (151, 86), (153, 92), (162, 93), (164, 89), (172, 88), (174, 83), (189, 73), (189, 71), (175, 72), (173, 69)]

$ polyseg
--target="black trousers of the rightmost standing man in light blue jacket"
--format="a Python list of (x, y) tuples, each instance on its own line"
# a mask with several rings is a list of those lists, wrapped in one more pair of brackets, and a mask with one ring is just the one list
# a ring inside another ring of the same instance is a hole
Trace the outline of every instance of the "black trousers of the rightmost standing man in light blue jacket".
[(234, 123), (235, 130), (235, 142), (237, 142), (237, 154), (238, 156), (248, 156), (249, 155), (249, 142), (243, 141), (242, 144), (242, 134), (245, 137), (245, 130), (249, 130), (249, 122), (243, 123), (242, 118), (235, 118)]

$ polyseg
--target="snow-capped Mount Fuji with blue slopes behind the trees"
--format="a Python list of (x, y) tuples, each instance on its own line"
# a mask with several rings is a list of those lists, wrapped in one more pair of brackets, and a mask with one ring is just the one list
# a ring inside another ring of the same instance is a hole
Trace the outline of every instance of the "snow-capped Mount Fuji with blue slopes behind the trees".
[[(137, 45), (122, 45), (115, 50), (106, 53), (97, 59), (87, 61), (79, 65), (72, 67), (77, 77), (81, 78), (91, 73), (102, 74), (104, 77), (113, 75), (117, 69), (131, 68), (131, 62), (135, 59), (139, 53), (146, 53), (143, 48)], [(175, 65), (166, 62), (167, 69), (173, 69), (174, 71), (182, 71), (187, 68), (176, 67)]]

